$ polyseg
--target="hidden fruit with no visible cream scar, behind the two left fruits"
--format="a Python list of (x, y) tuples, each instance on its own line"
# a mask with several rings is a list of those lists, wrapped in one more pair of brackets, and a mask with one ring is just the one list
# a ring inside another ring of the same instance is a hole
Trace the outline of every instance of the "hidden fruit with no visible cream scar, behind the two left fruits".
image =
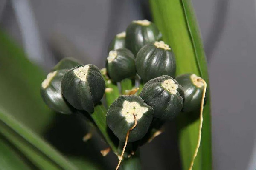
[(73, 58), (70, 57), (66, 57), (64, 59), (61, 59), (61, 61), (59, 61), (55, 67), (52, 69), (52, 71), (56, 71), (56, 70), (62, 70), (62, 69), (71, 69), (71, 68), (75, 68), (76, 66), (80, 65), (80, 63)]

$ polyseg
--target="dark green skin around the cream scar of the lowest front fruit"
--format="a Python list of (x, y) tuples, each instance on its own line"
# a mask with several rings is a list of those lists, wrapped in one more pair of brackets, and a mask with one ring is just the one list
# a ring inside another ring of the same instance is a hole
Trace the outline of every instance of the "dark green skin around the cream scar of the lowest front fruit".
[(154, 110), (150, 106), (145, 104), (143, 99), (141, 99), (139, 96), (119, 96), (109, 107), (106, 120), (108, 127), (122, 142), (125, 142), (128, 130), (134, 126), (134, 122), (127, 122), (125, 120), (125, 117), (121, 114), (123, 103), (125, 100), (129, 102), (137, 102), (140, 104), (140, 106), (148, 108), (148, 111), (145, 112), (143, 116), (137, 120), (136, 127), (130, 131), (128, 142), (134, 142), (142, 139), (143, 136), (145, 136), (145, 134), (147, 133), (153, 119)]

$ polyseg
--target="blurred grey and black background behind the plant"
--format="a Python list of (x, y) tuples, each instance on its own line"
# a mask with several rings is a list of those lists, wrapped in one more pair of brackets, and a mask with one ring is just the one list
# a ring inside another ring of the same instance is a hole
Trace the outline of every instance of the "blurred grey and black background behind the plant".
[[(255, 1), (192, 0), (192, 3), (209, 65), (213, 169), (254, 170)], [(140, 19), (151, 20), (147, 0), (0, 0), (0, 29), (45, 73), (63, 57), (103, 68), (108, 43), (114, 35), (125, 31), (132, 20)], [(0, 67), (3, 65), (0, 63)], [(79, 118), (56, 115), (47, 125), (42, 130), (44, 138), (61, 152), (73, 157), (84, 154), (93, 160), (96, 157), (92, 155), (97, 152), (100, 157), (99, 150), (104, 149), (101, 142), (95, 144), (98, 140), (93, 139), (90, 144), (96, 145), (96, 149), (87, 151), (90, 147), (80, 140), (86, 127)], [(56, 133), (60, 129), (63, 134)], [(171, 122), (166, 125), (165, 133), (142, 147), (143, 169), (180, 168), (176, 135)], [(76, 138), (79, 144), (73, 140)], [(112, 158), (110, 155), (100, 160), (113, 169), (116, 161)]]

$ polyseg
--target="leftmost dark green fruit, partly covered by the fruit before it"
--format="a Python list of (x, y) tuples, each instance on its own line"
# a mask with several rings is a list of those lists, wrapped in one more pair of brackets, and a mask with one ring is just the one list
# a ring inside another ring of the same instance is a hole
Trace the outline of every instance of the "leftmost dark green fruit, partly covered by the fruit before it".
[(61, 79), (67, 69), (52, 71), (42, 82), (40, 93), (49, 108), (63, 114), (71, 114), (75, 110), (61, 94)]

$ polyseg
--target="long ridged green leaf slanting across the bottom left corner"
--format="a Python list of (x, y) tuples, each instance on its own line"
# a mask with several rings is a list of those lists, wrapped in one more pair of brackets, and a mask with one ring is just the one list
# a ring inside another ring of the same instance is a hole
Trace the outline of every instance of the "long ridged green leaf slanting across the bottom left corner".
[(43, 139), (27, 127), (21, 125), (5, 111), (0, 111), (0, 120), (2, 122), (0, 124), (0, 133), (9, 139), (13, 145), (19, 148), (41, 169), (47, 167), (52, 170), (77, 170), (73, 164), (70, 164), (67, 159), (62, 157), (60, 153), (44, 142)]

